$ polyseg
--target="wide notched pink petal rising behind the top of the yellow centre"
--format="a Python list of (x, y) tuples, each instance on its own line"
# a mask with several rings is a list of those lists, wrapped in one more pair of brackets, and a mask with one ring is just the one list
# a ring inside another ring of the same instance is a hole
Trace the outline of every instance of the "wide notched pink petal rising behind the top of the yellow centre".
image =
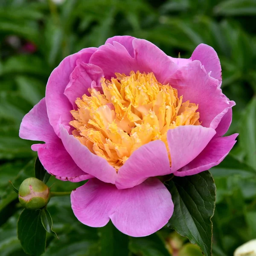
[[(177, 65), (154, 44), (129, 38), (124, 46), (124, 41), (121, 37), (118, 41), (109, 41), (111, 44), (102, 45), (90, 58), (90, 63), (101, 67), (107, 79), (114, 77), (116, 72), (129, 75), (132, 70), (139, 70), (153, 72), (161, 82), (177, 69)], [(131, 55), (131, 43), (134, 56)]]

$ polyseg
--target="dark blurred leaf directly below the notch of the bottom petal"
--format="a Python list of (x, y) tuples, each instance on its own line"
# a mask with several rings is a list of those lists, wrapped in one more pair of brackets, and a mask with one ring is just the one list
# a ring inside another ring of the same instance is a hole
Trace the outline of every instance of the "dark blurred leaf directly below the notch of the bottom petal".
[(129, 237), (114, 227), (111, 221), (99, 229), (101, 256), (128, 256)]

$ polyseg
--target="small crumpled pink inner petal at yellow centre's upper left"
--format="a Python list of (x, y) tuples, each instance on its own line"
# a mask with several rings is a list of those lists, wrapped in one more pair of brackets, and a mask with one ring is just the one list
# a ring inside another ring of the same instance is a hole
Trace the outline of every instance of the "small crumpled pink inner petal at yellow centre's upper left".
[(102, 76), (104, 75), (100, 67), (77, 61), (77, 66), (71, 73), (70, 82), (64, 91), (64, 95), (67, 96), (73, 108), (76, 108), (77, 98), (81, 98), (84, 94), (90, 96), (88, 88), (91, 88), (92, 81), (95, 81), (98, 87), (100, 86)]

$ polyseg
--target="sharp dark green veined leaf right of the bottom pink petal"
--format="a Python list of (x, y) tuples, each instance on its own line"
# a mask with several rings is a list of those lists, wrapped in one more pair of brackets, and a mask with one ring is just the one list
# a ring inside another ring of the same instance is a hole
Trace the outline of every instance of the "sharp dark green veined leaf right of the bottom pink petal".
[(215, 208), (216, 186), (212, 175), (174, 177), (169, 181), (169, 191), (174, 202), (174, 212), (168, 227), (198, 244), (206, 256), (212, 250), (212, 215)]

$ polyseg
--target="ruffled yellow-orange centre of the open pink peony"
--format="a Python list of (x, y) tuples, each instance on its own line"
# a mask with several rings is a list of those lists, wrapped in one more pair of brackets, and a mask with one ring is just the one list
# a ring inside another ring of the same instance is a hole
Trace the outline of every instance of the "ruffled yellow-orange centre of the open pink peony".
[(134, 150), (153, 140), (162, 140), (169, 151), (169, 129), (200, 125), (198, 105), (182, 103), (177, 90), (160, 84), (153, 73), (116, 73), (116, 78), (102, 78), (101, 83), (103, 94), (89, 89), (91, 96), (76, 100), (70, 125), (73, 135), (116, 171)]

